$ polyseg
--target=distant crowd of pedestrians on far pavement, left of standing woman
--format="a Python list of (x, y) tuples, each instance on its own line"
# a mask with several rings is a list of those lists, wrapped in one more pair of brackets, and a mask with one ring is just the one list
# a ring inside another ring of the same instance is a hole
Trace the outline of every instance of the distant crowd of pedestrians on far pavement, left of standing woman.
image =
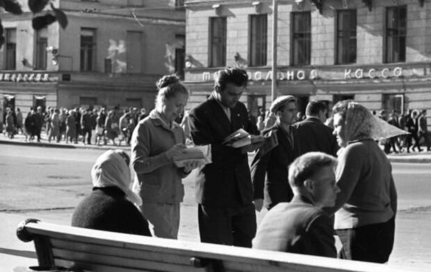
[[(49, 142), (83, 143), (87, 145), (130, 145), (131, 134), (139, 120), (147, 117), (147, 111), (142, 108), (129, 107), (120, 111), (114, 107), (107, 111), (100, 109), (79, 108), (65, 109), (42, 106), (31, 108), (24, 118), (19, 108), (6, 108), (0, 133), (13, 139), (17, 134), (23, 134), (25, 141), (41, 140), (42, 131), (46, 133)], [(3, 129), (4, 124), (4, 129)]]

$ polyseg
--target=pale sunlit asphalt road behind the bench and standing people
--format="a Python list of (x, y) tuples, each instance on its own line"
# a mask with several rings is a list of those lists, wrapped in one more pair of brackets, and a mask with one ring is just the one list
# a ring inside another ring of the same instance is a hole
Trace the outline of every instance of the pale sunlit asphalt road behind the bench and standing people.
[[(8, 237), (14, 235), (13, 227), (22, 218), (70, 223), (73, 208), (91, 191), (90, 169), (102, 152), (0, 145), (0, 231), (8, 228), (7, 236), (0, 239), (0, 262), (2, 253), (10, 257), (15, 249), (16, 255), (31, 257), (31, 245), (23, 246)], [(393, 175), (399, 204), (396, 243), (389, 263), (431, 269), (431, 165), (393, 163)], [(193, 177), (194, 173), (184, 179), (186, 197), (179, 239), (198, 241)], [(258, 214), (259, 221), (264, 214)]]

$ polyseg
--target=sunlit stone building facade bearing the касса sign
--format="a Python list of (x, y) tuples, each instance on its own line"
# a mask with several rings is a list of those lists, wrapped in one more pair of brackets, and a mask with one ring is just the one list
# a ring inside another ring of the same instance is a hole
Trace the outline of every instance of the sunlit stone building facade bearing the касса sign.
[[(309, 99), (350, 98), (371, 110), (431, 109), (431, 1), (277, 2), (277, 95), (297, 96), (301, 111)], [(251, 79), (243, 102), (268, 109), (272, 1), (185, 5), (189, 106), (211, 92), (213, 72), (237, 66)]]

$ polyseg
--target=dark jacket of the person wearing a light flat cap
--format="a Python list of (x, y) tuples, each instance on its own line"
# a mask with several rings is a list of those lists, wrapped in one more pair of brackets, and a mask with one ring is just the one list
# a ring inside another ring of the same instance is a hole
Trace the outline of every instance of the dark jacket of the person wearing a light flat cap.
[[(258, 150), (252, 161), (254, 199), (264, 199), (267, 209), (279, 202), (288, 202), (293, 197), (291, 186), (288, 184), (288, 165), (298, 157), (300, 150), (296, 129), (294, 127), (291, 129), (294, 143), (288, 140), (286, 131), (282, 129), (279, 122), (262, 131), (263, 135), (271, 130), (275, 131), (278, 145), (266, 154), (261, 154), (261, 150)], [(265, 174), (268, 177), (266, 180)]]

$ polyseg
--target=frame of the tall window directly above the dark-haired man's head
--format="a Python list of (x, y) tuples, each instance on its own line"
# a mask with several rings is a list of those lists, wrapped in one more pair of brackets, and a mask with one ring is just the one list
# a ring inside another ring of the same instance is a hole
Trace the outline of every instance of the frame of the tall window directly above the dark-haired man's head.
[[(213, 24), (215, 20), (222, 20), (222, 37), (215, 37), (213, 34)], [(218, 50), (220, 50), (222, 56), (218, 56), (218, 60), (213, 61), (214, 60), (214, 51), (213, 51), (213, 40), (215, 40), (215, 38), (220, 38), (222, 40), (222, 42), (220, 42), (218, 45)], [(208, 67), (225, 67), (226, 66), (226, 54), (227, 54), (227, 17), (209, 17), (209, 54), (208, 54)]]

